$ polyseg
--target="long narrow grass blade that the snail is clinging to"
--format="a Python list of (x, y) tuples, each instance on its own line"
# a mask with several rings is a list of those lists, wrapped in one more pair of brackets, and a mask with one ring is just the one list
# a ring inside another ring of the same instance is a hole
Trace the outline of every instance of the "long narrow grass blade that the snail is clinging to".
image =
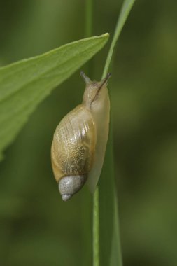
[[(113, 56), (113, 49), (118, 41), (122, 27), (125, 25), (129, 12), (135, 0), (125, 0), (120, 10), (118, 23), (115, 27), (115, 34), (108, 52), (106, 64), (104, 67), (103, 77), (108, 73), (110, 62)], [(111, 82), (109, 84), (111, 87)], [(111, 91), (111, 90), (110, 90)], [(111, 130), (110, 130), (111, 131)], [(120, 232), (118, 219), (118, 198), (115, 185), (115, 173), (113, 164), (113, 137), (112, 131), (109, 134), (108, 145), (106, 150), (106, 158), (101, 178), (99, 179), (99, 192), (96, 190), (97, 197), (94, 197), (94, 208), (99, 210), (99, 222), (94, 221), (94, 228), (97, 232), (95, 237), (99, 238), (99, 260), (101, 266), (122, 266), (122, 254), (120, 248)], [(98, 197), (99, 195), (99, 197)], [(99, 205), (99, 207), (98, 207)], [(94, 213), (94, 212), (93, 212)], [(98, 216), (94, 216), (98, 219)], [(94, 242), (98, 239), (94, 239)], [(95, 245), (97, 248), (97, 246)], [(94, 251), (95, 254), (98, 253)], [(99, 265), (98, 255), (95, 259), (95, 265)]]

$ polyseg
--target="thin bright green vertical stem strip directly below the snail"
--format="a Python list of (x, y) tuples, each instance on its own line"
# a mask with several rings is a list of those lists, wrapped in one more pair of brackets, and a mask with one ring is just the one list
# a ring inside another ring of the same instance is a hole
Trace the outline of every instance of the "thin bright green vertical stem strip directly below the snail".
[(93, 266), (99, 266), (99, 188), (93, 196)]

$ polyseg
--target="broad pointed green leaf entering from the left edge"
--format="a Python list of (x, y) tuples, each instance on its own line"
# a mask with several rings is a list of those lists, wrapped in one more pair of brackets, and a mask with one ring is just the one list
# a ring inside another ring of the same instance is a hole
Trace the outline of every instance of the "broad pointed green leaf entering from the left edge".
[(63, 45), (0, 69), (0, 160), (29, 115), (108, 41), (108, 34)]

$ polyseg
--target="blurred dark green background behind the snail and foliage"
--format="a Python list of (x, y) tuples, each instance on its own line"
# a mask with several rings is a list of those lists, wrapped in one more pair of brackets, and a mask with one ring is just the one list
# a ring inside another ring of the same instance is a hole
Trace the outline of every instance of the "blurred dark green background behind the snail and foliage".
[[(113, 36), (122, 1), (94, 1), (92, 35)], [(85, 1), (0, 1), (0, 66), (85, 37)], [(136, 1), (113, 60), (113, 121), (125, 266), (177, 265), (177, 2)], [(109, 41), (110, 44), (110, 41)], [(108, 45), (92, 61), (99, 80)], [(87, 66), (83, 67), (87, 73)], [(92, 265), (92, 196), (62, 202), (50, 166), (79, 72), (38, 106), (0, 165), (0, 265)]]

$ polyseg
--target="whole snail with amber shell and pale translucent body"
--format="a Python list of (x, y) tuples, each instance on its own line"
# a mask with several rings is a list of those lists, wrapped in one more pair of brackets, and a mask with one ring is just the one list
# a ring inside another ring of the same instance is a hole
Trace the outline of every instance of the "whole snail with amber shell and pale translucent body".
[(108, 140), (110, 102), (107, 80), (86, 83), (82, 104), (61, 120), (55, 130), (52, 147), (52, 170), (62, 200), (69, 200), (85, 182), (93, 193), (101, 174)]

